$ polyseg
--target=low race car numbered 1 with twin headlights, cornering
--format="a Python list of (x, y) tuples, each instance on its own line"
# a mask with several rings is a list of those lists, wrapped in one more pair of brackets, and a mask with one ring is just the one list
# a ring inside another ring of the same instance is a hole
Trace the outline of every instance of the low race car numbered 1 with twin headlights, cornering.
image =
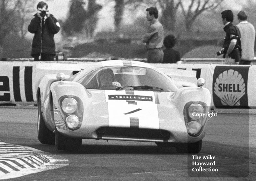
[(45, 75), (37, 90), (38, 139), (58, 150), (103, 139), (199, 153), (211, 95), (204, 80), (197, 83), (182, 87), (150, 64), (130, 60), (98, 62), (69, 78)]

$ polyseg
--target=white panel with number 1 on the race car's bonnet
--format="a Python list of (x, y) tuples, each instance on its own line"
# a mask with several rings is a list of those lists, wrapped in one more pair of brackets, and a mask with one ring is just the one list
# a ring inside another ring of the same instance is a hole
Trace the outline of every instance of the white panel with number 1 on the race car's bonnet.
[(153, 91), (105, 90), (105, 95), (110, 127), (159, 129)]

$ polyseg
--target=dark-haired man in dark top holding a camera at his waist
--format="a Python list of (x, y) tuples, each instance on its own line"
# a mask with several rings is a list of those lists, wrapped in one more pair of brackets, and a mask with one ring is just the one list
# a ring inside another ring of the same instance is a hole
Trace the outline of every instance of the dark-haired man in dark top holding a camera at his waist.
[(239, 29), (233, 25), (234, 15), (231, 10), (225, 10), (220, 13), (223, 28), (226, 32), (224, 43), (221, 51), (217, 55), (223, 54), (225, 64), (238, 64), (241, 57), (241, 35)]

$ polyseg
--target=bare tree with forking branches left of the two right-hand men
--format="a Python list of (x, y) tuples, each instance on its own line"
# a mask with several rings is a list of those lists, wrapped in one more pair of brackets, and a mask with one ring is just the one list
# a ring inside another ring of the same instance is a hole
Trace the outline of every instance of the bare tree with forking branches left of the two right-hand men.
[(186, 29), (191, 31), (193, 23), (200, 14), (205, 11), (215, 10), (224, 0), (190, 0), (187, 8), (185, 7), (185, 2), (188, 3), (188, 1), (179, 1), (185, 18)]

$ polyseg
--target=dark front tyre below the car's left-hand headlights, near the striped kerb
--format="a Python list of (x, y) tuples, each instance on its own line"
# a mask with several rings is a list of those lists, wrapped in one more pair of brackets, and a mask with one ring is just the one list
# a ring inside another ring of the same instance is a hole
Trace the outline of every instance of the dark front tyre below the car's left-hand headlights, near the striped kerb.
[(82, 145), (82, 139), (66, 137), (55, 129), (55, 146), (57, 150), (77, 151)]

